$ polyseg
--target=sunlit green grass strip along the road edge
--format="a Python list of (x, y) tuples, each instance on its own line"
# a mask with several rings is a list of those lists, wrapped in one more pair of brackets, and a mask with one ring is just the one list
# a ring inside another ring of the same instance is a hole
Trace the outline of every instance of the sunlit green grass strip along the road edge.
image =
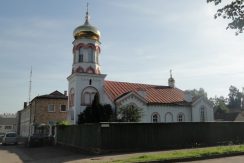
[(244, 152), (244, 145), (218, 146), (198, 149), (186, 149), (177, 151), (167, 151), (162, 153), (143, 154), (121, 160), (114, 160), (114, 163), (133, 163), (151, 161), (170, 161), (177, 159), (200, 159), (213, 156), (231, 155)]

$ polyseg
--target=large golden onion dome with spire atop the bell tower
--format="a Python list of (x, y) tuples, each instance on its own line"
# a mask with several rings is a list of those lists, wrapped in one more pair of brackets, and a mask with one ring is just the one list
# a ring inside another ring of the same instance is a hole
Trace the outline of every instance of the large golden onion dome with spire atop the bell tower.
[(88, 12), (86, 12), (85, 23), (75, 28), (73, 32), (73, 36), (75, 39), (83, 37), (83, 38), (89, 38), (89, 39), (94, 39), (99, 41), (99, 38), (101, 36), (100, 31), (96, 27), (90, 25), (88, 19), (89, 19)]

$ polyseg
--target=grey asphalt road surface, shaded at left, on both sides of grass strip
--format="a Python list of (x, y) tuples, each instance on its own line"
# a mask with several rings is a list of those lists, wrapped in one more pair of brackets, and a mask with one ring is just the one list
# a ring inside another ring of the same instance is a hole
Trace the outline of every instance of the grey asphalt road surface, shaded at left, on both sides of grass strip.
[[(159, 151), (158, 151), (159, 152)], [(150, 152), (150, 153), (158, 153)], [(94, 156), (82, 154), (68, 148), (58, 146), (45, 146), (29, 148), (24, 145), (0, 144), (0, 163), (91, 163), (111, 162), (128, 156), (138, 156), (145, 153), (114, 154), (106, 156)], [(218, 159), (192, 161), (189, 163), (243, 163), (244, 156), (225, 157)]]

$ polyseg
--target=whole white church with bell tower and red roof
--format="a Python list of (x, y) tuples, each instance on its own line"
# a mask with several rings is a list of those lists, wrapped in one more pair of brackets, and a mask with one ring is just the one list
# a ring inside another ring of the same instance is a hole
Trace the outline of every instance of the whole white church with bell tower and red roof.
[(121, 107), (138, 107), (143, 116), (140, 122), (204, 122), (214, 121), (213, 106), (205, 97), (192, 97), (175, 87), (170, 72), (167, 86), (105, 80), (101, 71), (100, 31), (89, 22), (88, 10), (85, 23), (73, 32), (72, 73), (69, 83), (69, 116), (77, 124), (78, 115), (91, 105), (98, 93), (102, 104), (114, 110)]

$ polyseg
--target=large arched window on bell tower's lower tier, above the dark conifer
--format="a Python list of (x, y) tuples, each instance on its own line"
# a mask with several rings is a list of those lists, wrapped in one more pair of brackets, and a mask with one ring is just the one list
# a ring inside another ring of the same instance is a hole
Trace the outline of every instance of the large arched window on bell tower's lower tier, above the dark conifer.
[(94, 87), (86, 87), (81, 93), (81, 105), (91, 105), (97, 92)]

